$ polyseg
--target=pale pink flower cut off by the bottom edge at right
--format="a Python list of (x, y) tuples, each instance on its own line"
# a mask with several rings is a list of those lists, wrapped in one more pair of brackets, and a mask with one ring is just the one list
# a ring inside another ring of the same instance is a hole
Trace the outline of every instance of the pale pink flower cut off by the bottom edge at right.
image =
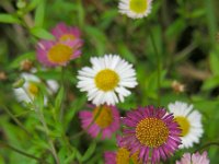
[(209, 164), (210, 161), (207, 156), (207, 152), (199, 154), (198, 152), (195, 154), (185, 153), (181, 161), (176, 161), (175, 164)]

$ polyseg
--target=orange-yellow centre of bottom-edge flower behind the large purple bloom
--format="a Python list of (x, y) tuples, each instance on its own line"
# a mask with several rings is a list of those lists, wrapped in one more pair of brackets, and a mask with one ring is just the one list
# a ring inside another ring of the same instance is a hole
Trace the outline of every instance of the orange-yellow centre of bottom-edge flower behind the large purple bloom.
[(139, 152), (134, 153), (130, 156), (130, 152), (125, 148), (119, 148), (116, 152), (116, 164), (128, 164), (132, 161), (134, 164), (141, 164), (142, 162), (138, 161)]

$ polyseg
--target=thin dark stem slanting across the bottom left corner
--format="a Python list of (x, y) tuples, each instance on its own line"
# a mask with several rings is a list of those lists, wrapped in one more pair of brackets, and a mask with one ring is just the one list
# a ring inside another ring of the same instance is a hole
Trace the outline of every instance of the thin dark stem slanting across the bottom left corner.
[(8, 143), (0, 142), (0, 147), (1, 147), (1, 148), (8, 148), (8, 149), (10, 149), (10, 150), (12, 150), (12, 151), (14, 151), (14, 152), (16, 152), (16, 153), (19, 153), (19, 154), (22, 154), (22, 155), (26, 156), (26, 157), (34, 159), (34, 160), (38, 161), (39, 163), (47, 163), (47, 162), (43, 161), (42, 159), (36, 157), (36, 156), (34, 156), (34, 155), (32, 155), (32, 154), (28, 154), (28, 153), (26, 153), (26, 152), (23, 152), (23, 151), (16, 149), (16, 148), (14, 148), (14, 147), (8, 144)]

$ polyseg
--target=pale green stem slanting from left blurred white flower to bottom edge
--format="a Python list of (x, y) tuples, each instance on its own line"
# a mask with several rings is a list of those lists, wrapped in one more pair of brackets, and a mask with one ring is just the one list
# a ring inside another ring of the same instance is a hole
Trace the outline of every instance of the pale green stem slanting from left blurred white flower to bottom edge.
[(56, 160), (56, 164), (60, 164), (58, 155), (57, 155), (57, 152), (56, 152), (56, 149), (55, 149), (55, 145), (54, 145), (54, 142), (49, 138), (49, 130), (48, 130), (47, 124), (45, 121), (44, 114), (41, 112), (41, 109), (38, 108), (38, 106), (35, 105), (34, 99), (32, 98), (32, 96), (30, 95), (30, 93), (26, 91), (26, 89), (25, 87), (22, 87), (22, 89), (24, 90), (24, 92), (27, 94), (27, 96), (32, 101), (32, 103), (34, 105), (34, 109), (35, 109), (36, 114), (38, 115), (38, 119), (39, 119), (39, 121), (42, 122), (42, 125), (44, 127), (44, 130), (45, 130), (46, 136), (47, 136), (48, 143), (50, 145), (51, 154), (54, 155), (54, 159)]

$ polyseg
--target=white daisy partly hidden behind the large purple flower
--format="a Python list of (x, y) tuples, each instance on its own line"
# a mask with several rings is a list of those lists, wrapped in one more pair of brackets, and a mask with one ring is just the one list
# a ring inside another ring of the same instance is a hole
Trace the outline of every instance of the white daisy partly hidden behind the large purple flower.
[(191, 148), (194, 143), (198, 143), (204, 132), (200, 113), (193, 110), (193, 105), (183, 102), (170, 103), (169, 109), (182, 129), (180, 148)]

